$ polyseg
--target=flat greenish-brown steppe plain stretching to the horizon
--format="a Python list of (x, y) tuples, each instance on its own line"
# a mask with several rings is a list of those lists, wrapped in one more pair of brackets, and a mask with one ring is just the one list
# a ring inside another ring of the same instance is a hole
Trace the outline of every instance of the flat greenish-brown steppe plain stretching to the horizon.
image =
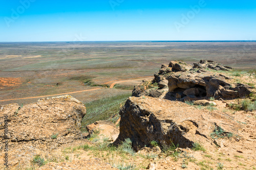
[(192, 64), (200, 59), (255, 69), (256, 42), (1, 42), (0, 105), (75, 91), (83, 92), (72, 96), (89, 103), (131, 93), (142, 80), (104, 87), (115, 81), (153, 76), (171, 60)]

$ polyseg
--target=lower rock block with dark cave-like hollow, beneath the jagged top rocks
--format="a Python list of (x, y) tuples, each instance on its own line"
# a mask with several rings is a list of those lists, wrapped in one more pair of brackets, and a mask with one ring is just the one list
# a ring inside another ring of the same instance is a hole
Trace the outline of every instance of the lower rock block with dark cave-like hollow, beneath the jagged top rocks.
[[(251, 87), (246, 84), (233, 84), (225, 82), (225, 78), (219, 75), (210, 75), (210, 72), (176, 72), (167, 77), (169, 92), (177, 93), (183, 90), (183, 94), (196, 96), (194, 100), (214, 97), (216, 99), (235, 99), (249, 95)], [(185, 100), (185, 98), (183, 99)], [(187, 99), (186, 99), (187, 100)]]

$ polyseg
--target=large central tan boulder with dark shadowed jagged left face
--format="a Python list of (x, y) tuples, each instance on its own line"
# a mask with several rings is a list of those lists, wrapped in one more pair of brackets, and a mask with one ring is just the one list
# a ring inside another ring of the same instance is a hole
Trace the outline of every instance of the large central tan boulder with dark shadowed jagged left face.
[(242, 128), (221, 111), (199, 110), (183, 102), (149, 96), (130, 97), (120, 115), (120, 134), (114, 143), (130, 138), (135, 149), (153, 140), (186, 148), (198, 141), (210, 142), (216, 127), (233, 134), (239, 134)]

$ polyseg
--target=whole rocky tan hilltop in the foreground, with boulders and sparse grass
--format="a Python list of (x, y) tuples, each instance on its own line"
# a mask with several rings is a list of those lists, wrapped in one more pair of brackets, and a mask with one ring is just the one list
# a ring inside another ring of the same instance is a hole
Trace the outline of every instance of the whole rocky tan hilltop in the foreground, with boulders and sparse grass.
[(154, 77), (88, 133), (88, 108), (70, 95), (0, 106), (1, 155), (7, 140), (10, 169), (256, 168), (255, 72), (170, 61)]

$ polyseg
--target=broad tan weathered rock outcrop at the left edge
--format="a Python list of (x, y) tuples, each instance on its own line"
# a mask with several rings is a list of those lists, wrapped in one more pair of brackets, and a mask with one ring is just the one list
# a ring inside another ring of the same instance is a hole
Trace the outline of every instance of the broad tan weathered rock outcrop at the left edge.
[(24, 107), (10, 104), (0, 108), (0, 118), (8, 119), (0, 126), (1, 153), (8, 141), (10, 166), (30, 161), (40, 150), (51, 150), (60, 144), (81, 139), (81, 120), (86, 107), (72, 96), (38, 100)]

